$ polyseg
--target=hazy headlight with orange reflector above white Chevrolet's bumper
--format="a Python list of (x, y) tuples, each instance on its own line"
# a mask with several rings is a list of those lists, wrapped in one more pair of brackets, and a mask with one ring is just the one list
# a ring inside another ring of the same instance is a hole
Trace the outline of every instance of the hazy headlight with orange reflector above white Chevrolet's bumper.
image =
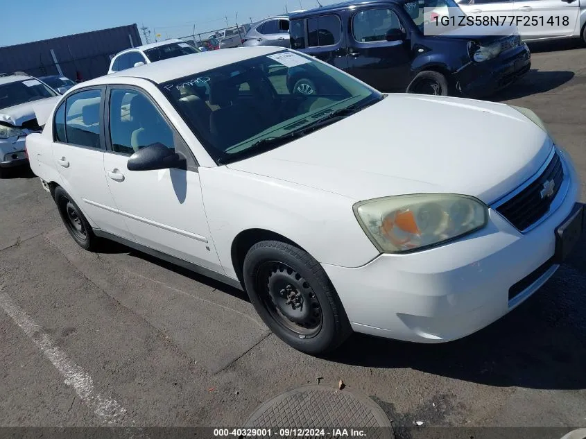
[(476, 198), (444, 193), (361, 201), (354, 214), (370, 241), (384, 253), (435, 246), (479, 230), (488, 208)]

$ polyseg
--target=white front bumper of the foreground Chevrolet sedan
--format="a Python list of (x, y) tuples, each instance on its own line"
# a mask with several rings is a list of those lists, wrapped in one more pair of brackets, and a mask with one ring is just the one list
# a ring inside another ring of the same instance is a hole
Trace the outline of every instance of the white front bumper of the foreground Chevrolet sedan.
[[(571, 162), (565, 164), (569, 186), (558, 193), (562, 203), (530, 232), (522, 234), (490, 209), (487, 227), (445, 246), (380, 255), (359, 268), (322, 264), (352, 328), (442, 343), (472, 334), (517, 307), (559, 267), (547, 265), (555, 253), (555, 229), (580, 196), (576, 171)], [(509, 290), (526, 278), (530, 282), (510, 299)]]

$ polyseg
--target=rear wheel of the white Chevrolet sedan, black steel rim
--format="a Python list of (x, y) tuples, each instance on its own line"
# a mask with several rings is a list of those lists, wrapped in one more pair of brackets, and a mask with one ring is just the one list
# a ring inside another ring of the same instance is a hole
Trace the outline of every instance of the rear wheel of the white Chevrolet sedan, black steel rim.
[(57, 204), (61, 220), (71, 238), (84, 250), (96, 250), (98, 238), (94, 235), (92, 227), (74, 200), (60, 186), (55, 188), (53, 198), (55, 199), (55, 204)]

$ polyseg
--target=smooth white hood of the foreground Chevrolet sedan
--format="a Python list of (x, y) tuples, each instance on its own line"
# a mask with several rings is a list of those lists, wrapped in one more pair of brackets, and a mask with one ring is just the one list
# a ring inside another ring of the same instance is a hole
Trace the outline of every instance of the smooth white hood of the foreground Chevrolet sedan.
[(530, 178), (551, 147), (546, 132), (505, 104), (390, 94), (228, 167), (354, 200), (446, 192), (491, 203)]

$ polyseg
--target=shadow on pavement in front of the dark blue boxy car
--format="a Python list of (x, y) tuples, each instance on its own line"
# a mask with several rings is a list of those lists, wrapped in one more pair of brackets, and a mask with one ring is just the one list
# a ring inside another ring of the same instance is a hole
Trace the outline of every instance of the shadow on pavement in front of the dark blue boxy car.
[(573, 71), (540, 71), (531, 69), (523, 78), (511, 84), (506, 89), (490, 96), (494, 102), (509, 101), (524, 98), (531, 94), (549, 92), (568, 83), (576, 74)]

